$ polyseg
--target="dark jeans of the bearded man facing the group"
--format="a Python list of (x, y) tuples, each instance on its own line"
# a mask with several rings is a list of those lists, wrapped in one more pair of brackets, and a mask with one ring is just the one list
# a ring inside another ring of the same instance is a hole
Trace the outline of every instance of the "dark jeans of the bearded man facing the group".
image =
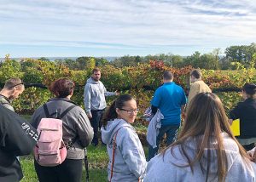
[(98, 129), (101, 129), (102, 127), (102, 115), (104, 113), (104, 110), (96, 110), (96, 111), (91, 111), (91, 116), (92, 118), (90, 119), (90, 125), (93, 128), (93, 139), (91, 141), (91, 144), (93, 145), (98, 145), (99, 140), (98, 140)]

